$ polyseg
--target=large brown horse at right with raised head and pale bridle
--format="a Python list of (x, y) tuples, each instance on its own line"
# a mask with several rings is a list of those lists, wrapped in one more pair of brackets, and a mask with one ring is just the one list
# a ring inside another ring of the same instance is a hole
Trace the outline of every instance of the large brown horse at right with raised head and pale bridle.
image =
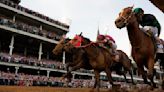
[[(138, 72), (142, 74), (145, 83), (156, 87), (153, 80), (155, 47), (152, 39), (140, 30), (132, 9), (133, 7), (124, 8), (115, 20), (115, 24), (117, 28), (127, 27), (128, 37), (132, 46), (132, 57), (138, 66)], [(144, 66), (147, 67), (148, 73), (145, 73)], [(151, 83), (147, 81), (147, 77)]]

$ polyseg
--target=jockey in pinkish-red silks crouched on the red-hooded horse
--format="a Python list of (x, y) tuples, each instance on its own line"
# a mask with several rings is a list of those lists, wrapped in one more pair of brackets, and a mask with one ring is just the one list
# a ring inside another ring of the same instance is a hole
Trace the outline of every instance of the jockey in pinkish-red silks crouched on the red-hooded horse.
[(99, 46), (109, 49), (109, 52), (114, 56), (114, 61), (118, 62), (119, 55), (116, 50), (117, 45), (115, 40), (110, 35), (98, 35), (96, 42), (99, 44)]

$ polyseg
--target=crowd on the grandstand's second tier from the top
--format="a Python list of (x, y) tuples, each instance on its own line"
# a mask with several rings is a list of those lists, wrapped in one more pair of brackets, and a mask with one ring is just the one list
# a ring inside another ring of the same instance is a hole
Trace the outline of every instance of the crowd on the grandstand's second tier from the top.
[(53, 31), (46, 31), (46, 30), (40, 29), (39, 27), (31, 26), (29, 24), (25, 24), (20, 21), (13, 22), (13, 20), (3, 18), (3, 17), (0, 17), (0, 25), (8, 26), (11, 28), (15, 28), (18, 30), (40, 35), (40, 36), (47, 37), (49, 39), (54, 39), (54, 40), (59, 40), (61, 37)]

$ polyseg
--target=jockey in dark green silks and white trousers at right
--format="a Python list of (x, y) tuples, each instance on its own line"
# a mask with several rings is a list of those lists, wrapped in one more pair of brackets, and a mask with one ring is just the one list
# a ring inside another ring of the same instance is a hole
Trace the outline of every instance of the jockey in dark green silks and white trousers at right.
[(142, 8), (135, 8), (133, 12), (137, 17), (139, 24), (143, 27), (143, 31), (145, 31), (149, 36), (153, 36), (156, 40), (157, 48), (161, 48), (162, 42), (159, 39), (161, 26), (156, 17), (152, 14), (144, 14), (144, 10)]

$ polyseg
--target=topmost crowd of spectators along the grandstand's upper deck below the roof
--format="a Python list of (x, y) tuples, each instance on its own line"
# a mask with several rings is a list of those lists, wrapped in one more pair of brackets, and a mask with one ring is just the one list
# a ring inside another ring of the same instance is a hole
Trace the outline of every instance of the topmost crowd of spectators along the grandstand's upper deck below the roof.
[(14, 2), (12, 2), (12, 1), (10, 1), (10, 0), (0, 0), (0, 3), (3, 3), (3, 4), (5, 4), (5, 5), (8, 5), (8, 6), (10, 6), (10, 7), (12, 7), (12, 8), (15, 8), (15, 9), (17, 9), (17, 10), (20, 10), (20, 11), (22, 11), (22, 12), (31, 14), (31, 15), (33, 15), (33, 16), (39, 17), (39, 18), (44, 19), (44, 20), (46, 20), (46, 21), (49, 21), (49, 22), (51, 22), (51, 23), (60, 25), (60, 26), (62, 26), (62, 27), (69, 28), (69, 25), (66, 25), (66, 24), (61, 23), (61, 22), (56, 21), (56, 20), (53, 20), (53, 19), (51, 19), (51, 18), (49, 18), (49, 17), (47, 17), (47, 16), (45, 16), (45, 15), (43, 15), (43, 14), (40, 14), (40, 13), (35, 12), (35, 11), (33, 11), (33, 10), (30, 10), (30, 9), (28, 9), (28, 8), (22, 7), (21, 5), (15, 4)]

